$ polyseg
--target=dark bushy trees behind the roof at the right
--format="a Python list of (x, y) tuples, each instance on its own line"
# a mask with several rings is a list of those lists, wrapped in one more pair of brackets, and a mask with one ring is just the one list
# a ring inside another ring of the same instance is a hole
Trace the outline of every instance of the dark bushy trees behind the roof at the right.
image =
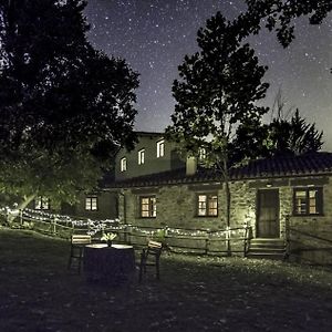
[[(273, 104), (269, 124), (260, 126), (241, 125), (232, 144), (234, 163), (250, 158), (288, 156), (314, 153), (323, 145), (323, 133), (300, 116), (297, 108), (284, 108), (286, 102), (279, 91)], [(249, 152), (249, 153), (248, 153)]]

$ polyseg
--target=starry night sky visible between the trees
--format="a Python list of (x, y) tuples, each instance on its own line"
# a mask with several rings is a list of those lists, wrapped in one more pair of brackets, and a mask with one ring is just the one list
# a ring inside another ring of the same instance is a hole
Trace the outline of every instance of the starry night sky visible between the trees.
[[(158, 132), (170, 124), (172, 83), (184, 55), (198, 51), (197, 30), (217, 11), (232, 20), (243, 10), (243, 0), (87, 0), (91, 43), (141, 74), (136, 129)], [(323, 149), (332, 152), (332, 13), (319, 27), (298, 19), (295, 37), (286, 50), (267, 30), (249, 39), (260, 64), (269, 66), (262, 103), (272, 106), (281, 90), (286, 108), (298, 107), (314, 122), (324, 132)]]

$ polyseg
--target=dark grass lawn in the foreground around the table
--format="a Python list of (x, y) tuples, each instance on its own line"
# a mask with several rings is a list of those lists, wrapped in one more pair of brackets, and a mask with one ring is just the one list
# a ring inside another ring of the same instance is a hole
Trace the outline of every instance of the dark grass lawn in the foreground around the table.
[(0, 229), (0, 331), (332, 331), (332, 271), (162, 256), (162, 280), (87, 283), (69, 242)]

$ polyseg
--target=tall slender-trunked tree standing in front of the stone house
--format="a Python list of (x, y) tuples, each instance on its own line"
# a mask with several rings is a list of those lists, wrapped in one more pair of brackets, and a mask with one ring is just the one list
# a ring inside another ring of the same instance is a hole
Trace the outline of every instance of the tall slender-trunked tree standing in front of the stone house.
[(267, 112), (255, 103), (268, 89), (261, 83), (267, 68), (258, 64), (249, 44), (240, 43), (238, 28), (220, 12), (199, 29), (197, 42), (200, 51), (186, 55), (178, 68), (173, 125), (166, 134), (191, 155), (206, 149), (206, 165), (220, 172), (226, 186), (230, 226), (229, 147), (239, 124), (258, 123)]

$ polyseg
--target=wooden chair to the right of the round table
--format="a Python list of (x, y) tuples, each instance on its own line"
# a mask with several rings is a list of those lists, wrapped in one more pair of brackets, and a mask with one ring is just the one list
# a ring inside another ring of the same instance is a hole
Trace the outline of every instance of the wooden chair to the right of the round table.
[(156, 267), (156, 278), (159, 280), (159, 261), (163, 250), (163, 243), (157, 241), (148, 241), (147, 248), (144, 248), (141, 253), (139, 261), (139, 282), (143, 273), (146, 273), (146, 267)]

